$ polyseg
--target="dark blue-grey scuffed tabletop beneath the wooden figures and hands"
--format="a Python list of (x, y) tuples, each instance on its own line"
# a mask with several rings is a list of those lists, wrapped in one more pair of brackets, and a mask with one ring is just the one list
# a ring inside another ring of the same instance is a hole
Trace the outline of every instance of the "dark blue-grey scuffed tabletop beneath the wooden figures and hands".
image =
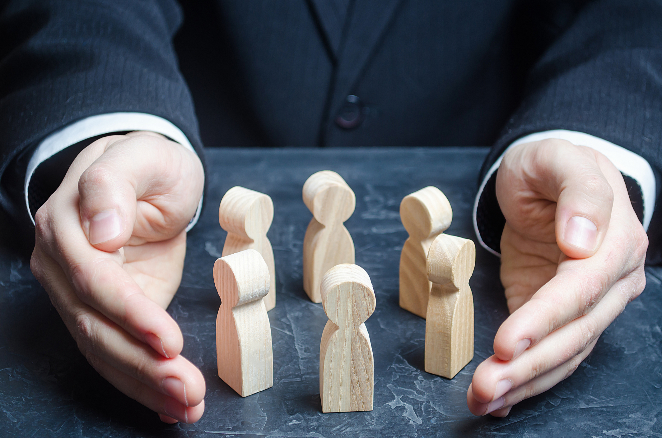
[[(475, 356), (448, 380), (424, 371), (425, 321), (398, 306), (398, 264), (407, 234), (405, 195), (436, 185), (453, 206), (449, 234), (475, 240), (471, 208), (487, 148), (208, 151), (207, 208), (189, 233), (179, 292), (168, 308), (184, 335), (183, 355), (207, 382), (206, 410), (195, 424), (166, 425), (87, 364), (48, 296), (17, 250), (13, 231), (0, 248), (1, 437), (641, 437), (662, 435), (662, 270), (647, 268), (647, 287), (609, 326), (571, 377), (516, 405), (504, 419), (474, 417), (465, 397), (477, 365), (492, 353), (508, 316), (498, 259), (477, 247), (470, 285)], [(356, 263), (369, 273), (377, 310), (365, 323), (375, 356), (372, 412), (323, 414), (319, 346), (326, 316), (302, 283), (303, 236), (312, 215), (301, 188), (332, 169), (356, 194), (346, 226)], [(269, 239), (277, 306), (269, 312), (273, 388), (241, 398), (216, 376), (215, 318), (220, 300), (212, 267), (225, 232), (218, 204), (232, 186), (273, 198)]]

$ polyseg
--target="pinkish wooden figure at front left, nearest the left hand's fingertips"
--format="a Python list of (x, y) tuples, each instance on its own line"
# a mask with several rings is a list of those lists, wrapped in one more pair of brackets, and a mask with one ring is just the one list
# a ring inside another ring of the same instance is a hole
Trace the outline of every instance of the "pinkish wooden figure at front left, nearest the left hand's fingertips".
[(226, 255), (214, 263), (220, 296), (216, 317), (218, 376), (240, 396), (273, 386), (271, 326), (263, 298), (269, 269), (255, 249)]

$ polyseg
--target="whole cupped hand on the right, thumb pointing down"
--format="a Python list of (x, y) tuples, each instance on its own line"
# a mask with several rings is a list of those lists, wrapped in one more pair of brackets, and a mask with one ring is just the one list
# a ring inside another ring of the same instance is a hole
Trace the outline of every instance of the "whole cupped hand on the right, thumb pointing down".
[(601, 153), (564, 140), (515, 146), (496, 175), (506, 218), (501, 282), (510, 317), (467, 391), (475, 415), (570, 376), (645, 286), (648, 240), (623, 177)]

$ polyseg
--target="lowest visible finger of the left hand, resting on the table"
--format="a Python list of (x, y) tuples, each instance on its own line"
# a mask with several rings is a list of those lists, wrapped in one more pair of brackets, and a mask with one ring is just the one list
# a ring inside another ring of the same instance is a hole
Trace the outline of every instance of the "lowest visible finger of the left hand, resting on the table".
[(195, 423), (195, 421), (198, 421), (202, 417), (203, 412), (205, 412), (205, 400), (202, 400), (197, 406), (187, 407), (177, 402), (174, 398), (156, 392), (146, 384), (118, 371), (93, 354), (88, 355), (87, 361), (89, 361), (103, 378), (111, 382), (115, 388), (126, 396), (157, 412), (160, 416), (165, 416), (166, 419), (176, 419), (183, 423)]

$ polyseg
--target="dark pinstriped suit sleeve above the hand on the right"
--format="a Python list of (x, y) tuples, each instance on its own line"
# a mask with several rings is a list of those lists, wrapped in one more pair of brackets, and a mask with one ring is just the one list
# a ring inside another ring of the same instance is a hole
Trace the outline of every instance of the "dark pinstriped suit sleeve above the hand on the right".
[[(480, 181), (518, 138), (536, 132), (568, 130), (604, 139), (643, 157), (655, 173), (655, 193), (659, 197), (660, 23), (659, 1), (604, 0), (583, 4), (531, 69), (522, 103), (483, 164)], [(626, 180), (628, 184), (633, 205), (641, 203), (641, 187), (636, 181)], [(488, 181), (477, 199), (477, 216), (482, 217), (477, 231), (498, 250), (504, 220), (492, 186)], [(659, 210), (653, 212), (648, 229), (647, 262), (655, 264), (662, 263)]]

